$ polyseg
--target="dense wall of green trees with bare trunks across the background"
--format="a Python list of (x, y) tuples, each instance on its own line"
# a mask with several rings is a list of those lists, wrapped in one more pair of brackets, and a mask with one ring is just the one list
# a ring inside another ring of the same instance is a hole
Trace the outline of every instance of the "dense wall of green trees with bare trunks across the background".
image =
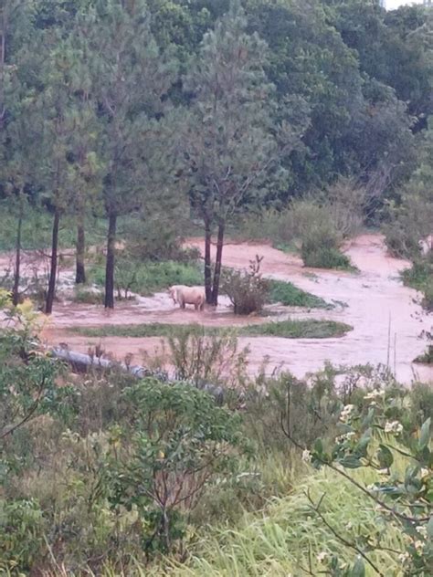
[[(114, 305), (118, 219), (183, 206), (204, 226), (206, 299), (217, 302), (227, 223), (349, 177), (366, 216), (418, 168), (433, 112), (431, 10), (375, 1), (6, 0), (0, 9), (0, 195), (58, 228), (108, 222), (105, 306)], [(189, 201), (189, 203), (188, 203)], [(189, 205), (189, 206), (188, 206)], [(210, 261), (217, 235), (216, 265)]]

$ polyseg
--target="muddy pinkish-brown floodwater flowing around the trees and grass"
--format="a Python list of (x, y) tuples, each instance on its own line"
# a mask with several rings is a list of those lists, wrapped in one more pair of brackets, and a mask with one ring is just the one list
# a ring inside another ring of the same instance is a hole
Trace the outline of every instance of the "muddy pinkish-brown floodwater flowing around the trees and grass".
[[(201, 240), (190, 239), (187, 244), (203, 251)], [(250, 349), (249, 372), (256, 372), (265, 357), (269, 372), (274, 367), (282, 367), (297, 376), (319, 370), (327, 361), (348, 365), (370, 362), (388, 364), (404, 383), (414, 379), (433, 382), (433, 367), (412, 362), (426, 348), (426, 341), (420, 335), (423, 330), (431, 330), (432, 315), (421, 309), (417, 291), (402, 285), (399, 273), (409, 263), (387, 255), (383, 237), (376, 234), (358, 236), (346, 248), (346, 253), (359, 268), (359, 273), (303, 268), (298, 257), (264, 243), (229, 243), (224, 247), (223, 259), (227, 267), (248, 268), (249, 261), (259, 255), (264, 257), (261, 266), (264, 275), (290, 280), (322, 299), (337, 302), (333, 310), (273, 306), (269, 308), (273, 319), (339, 320), (354, 327), (342, 338), (323, 340), (241, 337), (240, 346), (248, 345)], [(5, 260), (0, 258), (0, 270)], [(65, 270), (62, 274), (64, 282), (69, 285), (71, 271)], [(100, 344), (119, 359), (132, 353), (133, 362), (143, 362), (161, 350), (160, 339), (89, 338), (70, 333), (68, 329), (152, 322), (199, 322), (209, 327), (263, 322), (263, 319), (254, 317), (235, 317), (228, 304), (223, 298), (216, 310), (181, 310), (174, 307), (168, 295), (158, 293), (152, 298), (121, 303), (107, 312), (98, 306), (65, 301), (57, 304), (43, 331), (43, 338), (49, 344), (67, 342), (71, 350), (77, 351), (88, 351)]]

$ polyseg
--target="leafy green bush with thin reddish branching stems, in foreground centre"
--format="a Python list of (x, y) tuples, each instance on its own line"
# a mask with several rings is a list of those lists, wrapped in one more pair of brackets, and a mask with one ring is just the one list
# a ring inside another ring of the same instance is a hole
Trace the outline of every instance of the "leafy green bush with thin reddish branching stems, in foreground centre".
[[(112, 454), (111, 507), (136, 509), (146, 552), (173, 550), (206, 485), (247, 449), (240, 419), (190, 384), (146, 379), (125, 390), (132, 409), (128, 448)], [(115, 442), (122, 443), (122, 431)]]

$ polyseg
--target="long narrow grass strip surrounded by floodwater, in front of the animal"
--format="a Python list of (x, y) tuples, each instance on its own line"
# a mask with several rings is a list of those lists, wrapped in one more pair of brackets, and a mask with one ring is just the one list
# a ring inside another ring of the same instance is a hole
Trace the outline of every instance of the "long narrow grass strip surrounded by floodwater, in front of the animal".
[(104, 325), (103, 327), (71, 327), (85, 337), (170, 337), (185, 330), (200, 330), (209, 336), (234, 330), (239, 336), (270, 336), (283, 339), (327, 339), (341, 337), (352, 327), (334, 320), (280, 320), (247, 327), (203, 327), (197, 324), (173, 325), (154, 322), (137, 325)]

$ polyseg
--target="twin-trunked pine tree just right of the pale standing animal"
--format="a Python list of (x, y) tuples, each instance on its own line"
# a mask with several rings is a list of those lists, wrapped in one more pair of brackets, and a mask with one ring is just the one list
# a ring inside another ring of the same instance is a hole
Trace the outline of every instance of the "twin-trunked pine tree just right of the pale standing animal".
[[(238, 3), (203, 38), (185, 89), (194, 95), (185, 124), (184, 164), (193, 209), (206, 236), (206, 302), (217, 304), (227, 221), (267, 193), (269, 173), (297, 139), (272, 121), (272, 87), (264, 66), (267, 46), (249, 36)], [(217, 231), (212, 278), (210, 248)]]

